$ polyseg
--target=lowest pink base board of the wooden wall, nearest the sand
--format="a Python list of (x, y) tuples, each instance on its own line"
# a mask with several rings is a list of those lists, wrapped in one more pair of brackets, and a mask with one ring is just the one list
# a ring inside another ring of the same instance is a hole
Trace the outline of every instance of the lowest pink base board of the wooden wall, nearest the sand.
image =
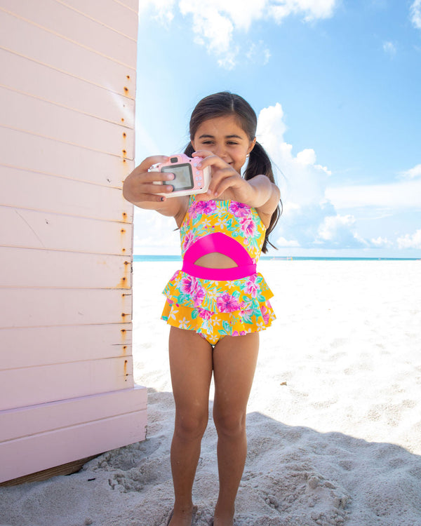
[(0, 482), (145, 440), (146, 419), (141, 410), (2, 443)]

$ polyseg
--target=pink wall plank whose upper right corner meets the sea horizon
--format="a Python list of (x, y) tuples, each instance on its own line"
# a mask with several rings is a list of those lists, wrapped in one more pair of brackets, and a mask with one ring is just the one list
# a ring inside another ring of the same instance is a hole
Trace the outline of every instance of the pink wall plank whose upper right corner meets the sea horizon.
[(131, 258), (0, 247), (0, 287), (131, 288)]

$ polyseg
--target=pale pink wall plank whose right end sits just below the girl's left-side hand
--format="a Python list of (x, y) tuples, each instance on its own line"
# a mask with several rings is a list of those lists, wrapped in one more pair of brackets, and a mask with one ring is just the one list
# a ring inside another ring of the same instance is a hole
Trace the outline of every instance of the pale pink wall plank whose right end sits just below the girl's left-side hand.
[(119, 188), (6, 166), (0, 166), (0, 187), (0, 205), (97, 220), (133, 221), (133, 206)]

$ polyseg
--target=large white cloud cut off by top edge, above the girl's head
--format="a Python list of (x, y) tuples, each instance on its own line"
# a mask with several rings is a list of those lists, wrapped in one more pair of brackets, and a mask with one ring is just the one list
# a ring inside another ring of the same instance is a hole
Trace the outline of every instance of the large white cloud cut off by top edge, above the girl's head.
[[(155, 18), (161, 22), (168, 24), (174, 17), (175, 0), (144, 0), (140, 4), (140, 16), (152, 6)], [(289, 15), (302, 16), (307, 22), (328, 18), (337, 4), (338, 0), (179, 0), (178, 9), (182, 16), (192, 18), (188, 23), (194, 41), (214, 53), (218, 65), (233, 69), (241, 52), (238, 37), (248, 32), (253, 22), (269, 20), (280, 24)], [(262, 41), (251, 44), (244, 52), (246, 58), (256, 60), (255, 48), (259, 48), (258, 55), (266, 64), (270, 50)]]

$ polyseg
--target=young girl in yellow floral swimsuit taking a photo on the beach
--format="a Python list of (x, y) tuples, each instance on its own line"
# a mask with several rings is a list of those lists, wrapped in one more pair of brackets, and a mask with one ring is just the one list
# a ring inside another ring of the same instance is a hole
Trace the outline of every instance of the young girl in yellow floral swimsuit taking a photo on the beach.
[[(260, 252), (278, 220), (280, 194), (271, 163), (255, 139), (255, 112), (239, 95), (215, 93), (190, 120), (189, 156), (211, 167), (207, 194), (166, 198), (173, 174), (148, 172), (165, 156), (148, 157), (127, 177), (123, 195), (140, 208), (173, 216), (180, 227), (183, 267), (164, 290), (162, 318), (170, 328), (175, 398), (171, 469), (175, 504), (170, 526), (194, 520), (192, 485), (208, 424), (213, 375), (213, 419), (218, 431), (220, 490), (215, 526), (232, 526), (246, 460), (246, 405), (258, 358), (258, 332), (274, 319), (272, 292), (256, 273)], [(243, 177), (241, 168), (248, 159)]]

